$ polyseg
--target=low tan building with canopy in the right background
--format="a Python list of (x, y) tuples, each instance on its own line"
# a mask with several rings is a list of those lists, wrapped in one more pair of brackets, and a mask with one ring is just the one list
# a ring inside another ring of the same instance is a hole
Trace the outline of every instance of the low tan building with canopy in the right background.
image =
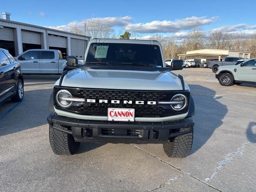
[(222, 61), (225, 57), (243, 57), (250, 59), (251, 52), (246, 51), (234, 51), (234, 50), (222, 50), (222, 49), (199, 49), (193, 51), (186, 51), (186, 54), (178, 55), (179, 59), (196, 60), (201, 62), (207, 62), (210, 60)]

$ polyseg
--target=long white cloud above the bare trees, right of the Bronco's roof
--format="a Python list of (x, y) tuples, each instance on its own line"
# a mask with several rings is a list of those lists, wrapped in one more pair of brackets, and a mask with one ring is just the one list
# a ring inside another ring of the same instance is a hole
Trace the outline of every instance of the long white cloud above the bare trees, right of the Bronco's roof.
[(217, 17), (206, 18), (204, 17), (187, 17), (184, 19), (177, 19), (174, 21), (155, 20), (148, 23), (135, 23), (128, 24), (125, 26), (125, 30), (137, 33), (168, 33), (168, 32), (179, 32), (180, 30), (189, 30), (196, 26), (202, 26), (214, 22)]

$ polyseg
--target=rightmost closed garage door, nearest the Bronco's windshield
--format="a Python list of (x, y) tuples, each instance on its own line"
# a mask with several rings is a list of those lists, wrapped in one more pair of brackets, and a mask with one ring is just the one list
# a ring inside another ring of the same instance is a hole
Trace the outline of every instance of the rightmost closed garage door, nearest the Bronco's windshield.
[(71, 55), (78, 59), (84, 59), (84, 47), (86, 47), (85, 40), (71, 38)]

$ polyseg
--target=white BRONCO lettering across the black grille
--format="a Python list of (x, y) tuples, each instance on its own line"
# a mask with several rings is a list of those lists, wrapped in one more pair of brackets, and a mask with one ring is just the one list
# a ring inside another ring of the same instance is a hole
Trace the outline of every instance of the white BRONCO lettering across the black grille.
[(96, 100), (96, 99), (87, 99), (88, 103), (112, 103), (112, 104), (138, 104), (138, 105), (156, 105), (156, 101), (130, 101), (130, 100)]

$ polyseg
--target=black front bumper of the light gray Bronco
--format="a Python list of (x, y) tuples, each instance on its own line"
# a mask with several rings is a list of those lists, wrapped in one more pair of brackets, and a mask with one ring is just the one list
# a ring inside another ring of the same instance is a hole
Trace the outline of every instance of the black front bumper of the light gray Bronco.
[[(105, 143), (164, 143), (169, 138), (192, 132), (194, 126), (191, 117), (168, 122), (110, 122), (51, 113), (47, 121), (50, 127), (73, 135), (77, 142)], [(56, 128), (54, 124), (65, 126), (68, 130)]]

